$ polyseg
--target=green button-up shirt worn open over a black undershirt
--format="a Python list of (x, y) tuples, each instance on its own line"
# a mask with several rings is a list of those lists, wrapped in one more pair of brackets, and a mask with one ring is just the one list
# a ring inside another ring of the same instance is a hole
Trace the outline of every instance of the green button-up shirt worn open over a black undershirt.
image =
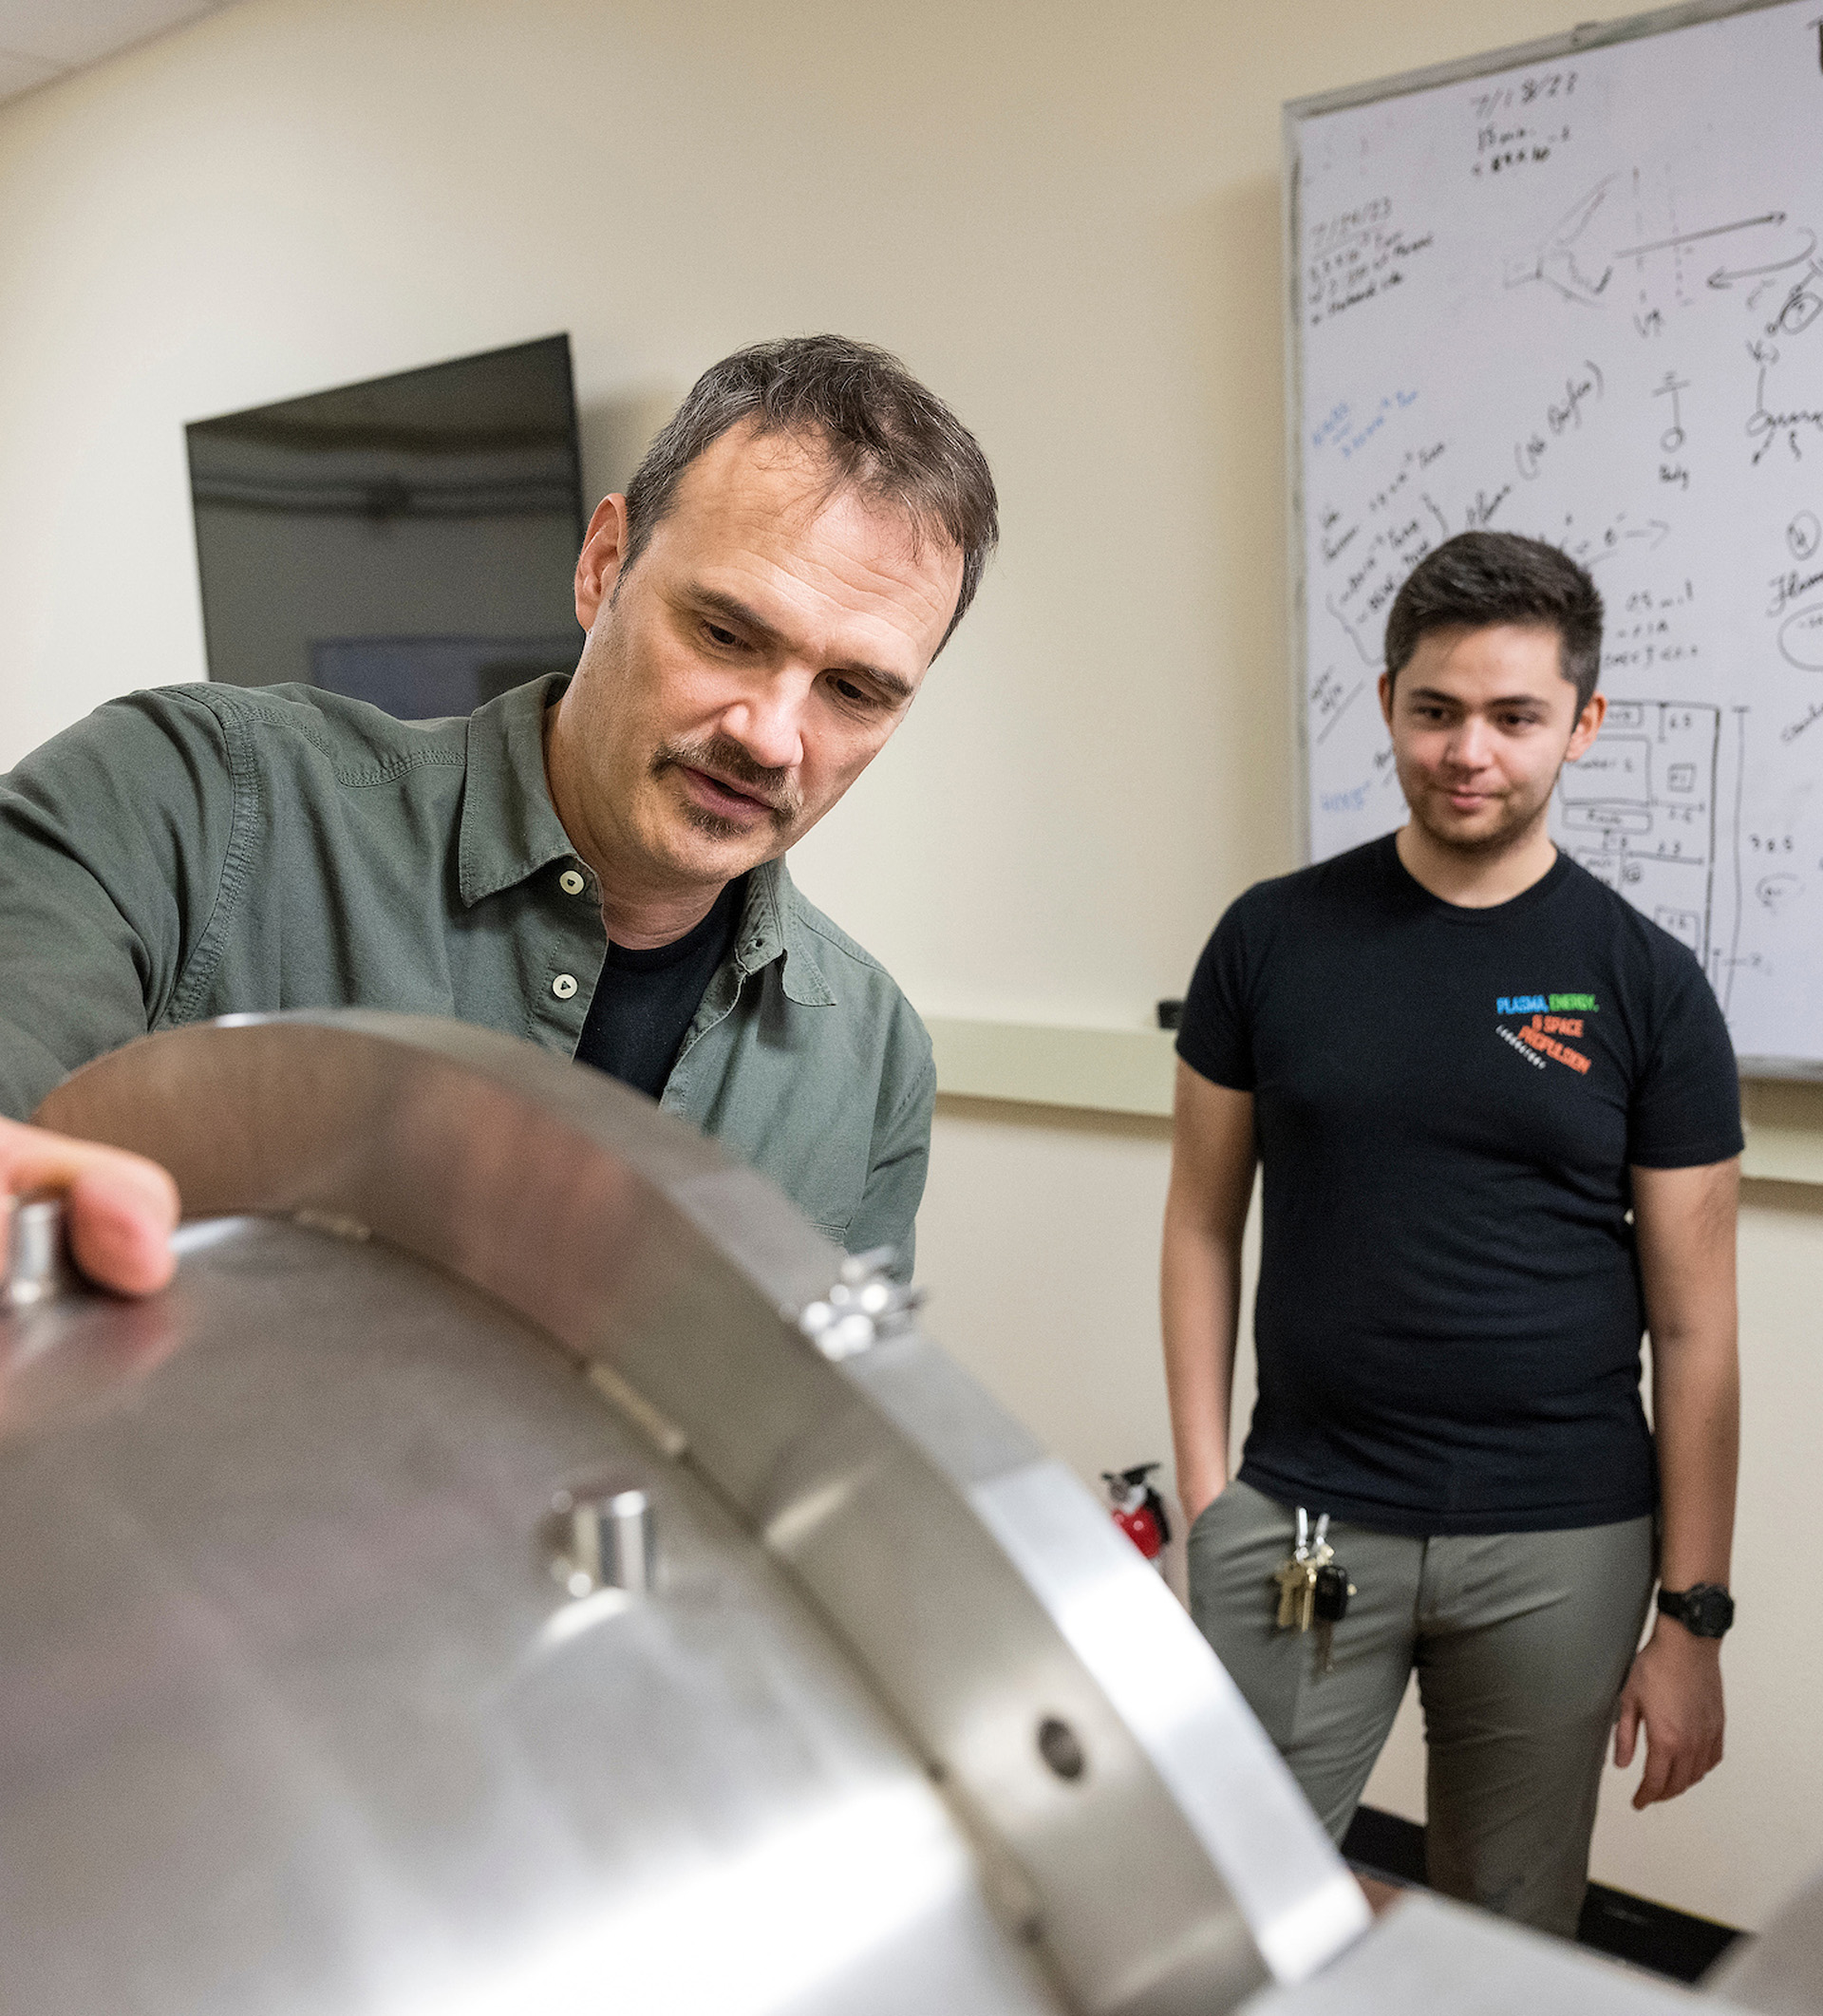
[[(544, 780), (563, 685), (446, 722), (167, 685), (46, 742), (0, 778), (0, 1111), (147, 1030), (246, 1010), (458, 1016), (573, 1056), (607, 931)], [(934, 1097), (891, 976), (782, 861), (756, 869), (661, 1105), (909, 1274)]]

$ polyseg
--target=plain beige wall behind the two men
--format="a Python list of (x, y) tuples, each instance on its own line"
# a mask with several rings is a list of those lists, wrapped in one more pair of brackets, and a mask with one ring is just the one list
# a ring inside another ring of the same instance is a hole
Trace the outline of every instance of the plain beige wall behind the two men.
[[(801, 855), (932, 1012), (1137, 1024), (1291, 865), (1279, 103), (1577, 0), (244, 0), (0, 111), (0, 762), (202, 673), (181, 421), (569, 329), (597, 488), (710, 359), (899, 349), (1006, 544)], [(1079, 1468), (1164, 1454), (1151, 1123), (938, 1123), (934, 1327)], [(1748, 1212), (1748, 1536), (1819, 1417), (1815, 1193)], [(1823, 1857), (1823, 1625), (1740, 1574), (1736, 1736), (1599, 1873), (1754, 1921)], [(1809, 1667), (1807, 1663), (1809, 1661)], [(1379, 1796), (1416, 1810), (1408, 1762)]]

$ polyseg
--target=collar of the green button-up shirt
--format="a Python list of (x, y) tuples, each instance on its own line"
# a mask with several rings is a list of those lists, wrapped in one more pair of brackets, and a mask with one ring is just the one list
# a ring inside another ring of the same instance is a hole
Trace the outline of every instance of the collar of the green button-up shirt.
[[(468, 718), (468, 784), (462, 794), (464, 905), (512, 889), (553, 861), (575, 859), (544, 776), (544, 710), (571, 673), (557, 671), (476, 708)], [(805, 1008), (833, 1008), (835, 990), (817, 958), (819, 935), (784, 859), (762, 861), (746, 881), (734, 960), (742, 974), (782, 960), (780, 982)]]

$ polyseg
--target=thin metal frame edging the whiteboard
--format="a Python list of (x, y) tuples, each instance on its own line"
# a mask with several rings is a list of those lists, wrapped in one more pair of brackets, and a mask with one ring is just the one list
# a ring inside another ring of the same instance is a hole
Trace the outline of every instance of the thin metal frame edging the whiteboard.
[[(1644, 42), (1652, 34), (1670, 34), (1676, 28), (1696, 28), (1702, 22), (1726, 20), (1732, 14), (1758, 14), (1769, 6), (1785, 4), (1787, 0), (1684, 0), (1682, 6), (1652, 8), (1648, 14), (1629, 14), (1625, 20), (1583, 22), (1583, 26), (1571, 28), (1569, 34), (1549, 34), (1537, 42), (1512, 42), (1508, 48), (1490, 48), (1480, 56), (1456, 56), (1452, 62), (1434, 62), (1422, 71), (1402, 71), (1397, 77), (1379, 77), (1365, 85), (1319, 91), (1307, 99), (1289, 99), (1281, 107), (1279, 131), (1285, 153), (1285, 173), (1281, 177), (1281, 232), (1285, 244), (1285, 633), (1291, 639), (1291, 746), (1293, 778), (1297, 782), (1295, 835), (1299, 865), (1309, 867), (1311, 861), (1311, 724), (1305, 702), (1305, 677), (1309, 669), (1303, 425), (1305, 260), (1301, 230), (1301, 129), (1305, 119), (1349, 111), (1355, 105), (1375, 105), (1381, 99), (1410, 97), (1414, 91), (1432, 91), (1438, 85), (1460, 85), (1470, 77), (1490, 77), (1496, 71), (1516, 71), (1533, 62), (1555, 62), (1561, 56), (1579, 56), (1591, 48), (1611, 48), (1615, 42)], [(1744, 1079), (1823, 1081), (1823, 1062), (1801, 1056), (1742, 1056), (1736, 1062)]]

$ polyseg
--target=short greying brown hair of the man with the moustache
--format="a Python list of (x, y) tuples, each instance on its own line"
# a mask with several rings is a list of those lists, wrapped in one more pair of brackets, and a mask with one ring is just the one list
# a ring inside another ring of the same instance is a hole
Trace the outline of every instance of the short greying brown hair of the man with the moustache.
[(684, 472), (730, 427), (795, 433), (829, 456), (831, 492), (895, 506), (914, 538), (962, 552), (962, 593), (938, 651), (962, 621), (1000, 538), (1000, 504), (980, 444), (889, 351), (847, 337), (782, 337), (724, 357), (690, 387), (627, 484), (633, 566), (672, 510)]

